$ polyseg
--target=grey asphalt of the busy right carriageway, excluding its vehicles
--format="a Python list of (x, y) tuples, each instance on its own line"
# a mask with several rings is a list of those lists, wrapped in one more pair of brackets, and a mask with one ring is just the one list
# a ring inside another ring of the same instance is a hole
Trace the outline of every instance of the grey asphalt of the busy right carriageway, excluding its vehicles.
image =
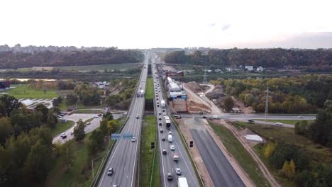
[[(182, 145), (182, 141), (180, 140), (179, 134), (177, 133), (177, 129), (175, 125), (171, 121), (171, 128), (167, 130), (165, 125), (165, 115), (163, 115), (163, 111), (165, 110), (165, 114), (170, 116), (170, 110), (167, 107), (167, 103), (165, 108), (162, 108), (161, 101), (165, 100), (162, 93), (162, 81), (157, 79), (157, 74), (155, 74), (155, 57), (153, 58), (153, 81), (155, 86), (155, 115), (157, 118), (161, 117), (162, 120), (157, 119), (157, 123), (161, 122), (162, 125), (158, 125), (158, 145), (157, 149), (160, 152), (160, 176), (162, 181), (162, 186), (177, 186), (177, 174), (175, 173), (175, 169), (181, 169), (181, 175), (187, 178), (187, 182), (189, 186), (199, 186), (199, 182), (197, 176), (194, 171), (194, 167), (192, 166), (192, 162), (190, 162), (189, 155), (187, 154), (184, 145)], [(159, 85), (159, 86), (158, 86)], [(156, 96), (156, 94), (158, 96)], [(158, 99), (157, 99), (158, 98)], [(166, 101), (165, 101), (166, 102)], [(159, 104), (158, 104), (159, 103)], [(161, 114), (159, 114), (161, 113)], [(164, 132), (160, 132), (160, 129), (163, 129)], [(168, 142), (167, 136), (169, 132), (172, 133), (172, 142)], [(165, 141), (162, 141), (162, 137), (165, 137)], [(175, 150), (170, 150), (170, 145), (175, 146)], [(167, 154), (162, 154), (162, 149), (166, 149)], [(173, 154), (179, 155), (179, 161), (175, 162), (173, 160)], [(172, 174), (172, 181), (167, 181), (167, 173)]]

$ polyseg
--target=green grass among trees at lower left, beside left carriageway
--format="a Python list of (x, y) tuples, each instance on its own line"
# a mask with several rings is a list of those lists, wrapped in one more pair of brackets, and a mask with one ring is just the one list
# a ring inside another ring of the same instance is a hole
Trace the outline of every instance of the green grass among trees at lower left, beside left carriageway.
[[(74, 142), (70, 140), (66, 144), (70, 144), (74, 154), (74, 164), (70, 167), (70, 171), (67, 171), (67, 167), (64, 165), (62, 157), (58, 157), (55, 160), (55, 166), (48, 174), (45, 186), (89, 186), (92, 181), (92, 168), (91, 162), (87, 162), (88, 150), (87, 140), (91, 132), (87, 134), (84, 142)], [(100, 152), (99, 155), (105, 154)], [(98, 169), (100, 160), (94, 162), (94, 171)]]

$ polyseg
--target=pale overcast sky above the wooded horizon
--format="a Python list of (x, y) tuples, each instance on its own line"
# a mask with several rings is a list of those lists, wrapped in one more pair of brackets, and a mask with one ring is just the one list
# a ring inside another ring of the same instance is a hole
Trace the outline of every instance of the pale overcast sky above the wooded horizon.
[(332, 1), (0, 1), (0, 45), (332, 48)]

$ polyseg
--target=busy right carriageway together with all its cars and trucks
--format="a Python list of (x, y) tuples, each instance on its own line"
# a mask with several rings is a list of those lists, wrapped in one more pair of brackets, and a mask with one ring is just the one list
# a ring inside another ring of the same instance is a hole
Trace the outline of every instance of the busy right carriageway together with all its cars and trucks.
[[(190, 162), (175, 125), (170, 119), (170, 109), (163, 96), (163, 83), (155, 67), (156, 58), (152, 60), (153, 84), (155, 89), (155, 115), (158, 125), (158, 149), (160, 152), (160, 176), (162, 186), (199, 186), (199, 181)], [(180, 180), (179, 180), (180, 179)]]

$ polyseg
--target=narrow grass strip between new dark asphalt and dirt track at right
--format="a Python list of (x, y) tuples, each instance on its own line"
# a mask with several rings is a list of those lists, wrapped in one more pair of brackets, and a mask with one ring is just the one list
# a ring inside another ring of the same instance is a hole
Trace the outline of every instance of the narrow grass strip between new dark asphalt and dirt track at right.
[(223, 145), (225, 145), (228, 152), (231, 152), (233, 157), (236, 158), (238, 164), (245, 170), (250, 176), (250, 179), (256, 186), (270, 186), (270, 183), (265, 179), (260, 171), (258, 164), (253, 160), (250, 154), (245, 150), (236, 137), (222, 125), (215, 125), (210, 123), (211, 127), (216, 132), (216, 135), (221, 138)]

